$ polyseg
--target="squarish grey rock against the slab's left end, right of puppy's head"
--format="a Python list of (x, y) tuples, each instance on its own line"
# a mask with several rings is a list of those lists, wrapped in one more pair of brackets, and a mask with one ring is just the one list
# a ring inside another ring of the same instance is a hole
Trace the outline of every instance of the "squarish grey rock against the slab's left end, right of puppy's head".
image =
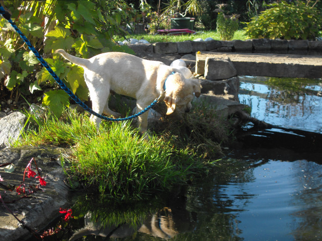
[(237, 71), (229, 58), (206, 58), (204, 74), (206, 79), (229, 79), (236, 75)]

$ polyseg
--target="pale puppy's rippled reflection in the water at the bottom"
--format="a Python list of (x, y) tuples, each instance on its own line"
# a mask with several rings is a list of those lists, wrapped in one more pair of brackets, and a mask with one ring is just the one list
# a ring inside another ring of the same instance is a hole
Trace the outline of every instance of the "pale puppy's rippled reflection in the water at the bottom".
[(128, 224), (104, 227), (100, 222), (94, 223), (91, 221), (91, 215), (87, 214), (85, 216), (85, 226), (76, 230), (69, 240), (77, 240), (88, 235), (97, 235), (106, 238), (127, 237), (136, 231), (169, 239), (179, 233), (192, 231), (195, 224), (195, 213), (190, 213), (186, 209), (172, 210), (169, 207), (164, 207), (158, 212), (149, 215), (137, 228), (133, 228)]

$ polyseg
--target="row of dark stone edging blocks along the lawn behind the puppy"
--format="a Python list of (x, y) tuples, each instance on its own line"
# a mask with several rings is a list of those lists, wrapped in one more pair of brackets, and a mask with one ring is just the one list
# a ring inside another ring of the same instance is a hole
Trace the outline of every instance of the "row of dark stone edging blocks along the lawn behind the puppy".
[(322, 41), (308, 40), (232, 40), (232, 41), (183, 41), (159, 42), (153, 44), (129, 44), (135, 53), (151, 54), (195, 54), (197, 51), (276, 53), (276, 54), (314, 54), (322, 53)]

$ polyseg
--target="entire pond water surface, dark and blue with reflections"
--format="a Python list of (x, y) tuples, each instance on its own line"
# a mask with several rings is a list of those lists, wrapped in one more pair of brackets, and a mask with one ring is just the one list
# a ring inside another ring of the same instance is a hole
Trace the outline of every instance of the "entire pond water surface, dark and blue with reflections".
[(322, 240), (321, 92), (321, 79), (240, 76), (240, 102), (276, 128), (240, 130), (206, 178), (171, 197), (117, 208), (86, 197), (71, 240)]

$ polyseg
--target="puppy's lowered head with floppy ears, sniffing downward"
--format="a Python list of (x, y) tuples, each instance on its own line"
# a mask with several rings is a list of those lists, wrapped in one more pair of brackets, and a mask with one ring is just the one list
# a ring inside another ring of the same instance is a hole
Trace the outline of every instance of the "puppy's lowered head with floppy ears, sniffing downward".
[(198, 79), (186, 79), (182, 73), (176, 72), (168, 77), (166, 83), (166, 95), (164, 101), (168, 107), (167, 114), (171, 114), (176, 109), (184, 113), (191, 109), (191, 100), (195, 96), (199, 97), (201, 85)]

